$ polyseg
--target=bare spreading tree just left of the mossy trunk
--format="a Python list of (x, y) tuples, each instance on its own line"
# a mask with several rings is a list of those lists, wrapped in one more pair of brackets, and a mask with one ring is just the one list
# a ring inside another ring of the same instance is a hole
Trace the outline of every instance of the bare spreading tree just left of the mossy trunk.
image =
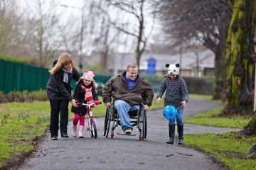
[[(163, 0), (159, 1), (159, 19), (170, 44), (185, 46), (200, 41), (215, 53), (215, 94), (223, 91), (223, 49), (228, 35), (231, 13), (223, 0)], [(168, 40), (166, 38), (166, 40)]]

